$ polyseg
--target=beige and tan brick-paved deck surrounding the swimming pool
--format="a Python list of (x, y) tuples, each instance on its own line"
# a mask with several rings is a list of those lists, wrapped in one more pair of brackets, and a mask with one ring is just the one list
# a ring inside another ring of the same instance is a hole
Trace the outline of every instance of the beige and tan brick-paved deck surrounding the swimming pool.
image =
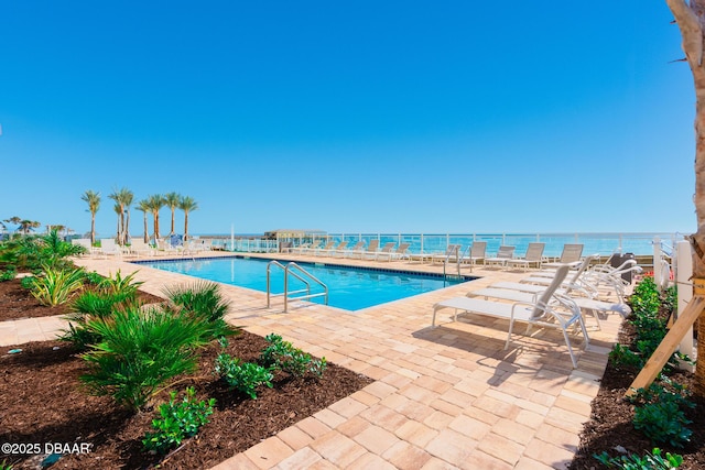
[[(443, 272), (440, 264), (406, 261), (276, 258)], [(141, 288), (155, 295), (165, 285), (193, 281), (128, 261), (83, 258), (76, 263), (104, 275), (137, 271), (135, 280), (144, 282)], [(502, 320), (465, 316), (452, 321), (453, 310), (446, 309), (438, 314), (440, 326), (432, 328), (434, 303), (528, 275), (482, 266), (471, 273), (465, 267), (463, 274), (480, 278), (356, 313), (302, 302), (283, 313), (281, 299), (267, 308), (264, 293), (224, 285), (224, 296), (231, 302), (227, 318), (234, 325), (261, 336), (276, 332), (375, 382), (214, 469), (567, 468), (621, 317), (603, 318), (601, 330), (589, 331), (587, 351), (575, 338), (578, 368), (573, 369), (560, 331), (524, 336), (519, 326), (505, 350)], [(63, 327), (57, 317), (3, 321), (0, 346), (53, 339)]]

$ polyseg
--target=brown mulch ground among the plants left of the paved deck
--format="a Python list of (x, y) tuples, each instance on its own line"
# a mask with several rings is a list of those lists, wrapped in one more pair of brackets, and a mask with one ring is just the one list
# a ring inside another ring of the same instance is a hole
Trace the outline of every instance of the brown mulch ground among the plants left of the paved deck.
[[(0, 320), (65, 313), (39, 306), (25, 289), (28, 298), (22, 298), (12, 283), (0, 283)], [(229, 340), (225, 352), (254, 362), (267, 345), (264, 338), (242, 331)], [(22, 351), (9, 353), (17, 348)], [(46, 458), (47, 444), (88, 442), (89, 453), (65, 455), (51, 468), (207, 469), (372, 382), (328, 363), (319, 380), (278, 372), (274, 387), (260, 387), (258, 398), (250, 400), (228, 390), (214, 374), (215, 358), (223, 351), (216, 345), (205, 349), (198, 375), (182, 380), (174, 387), (183, 392), (194, 386), (197, 400), (216, 398), (210, 423), (162, 458), (143, 451), (141, 439), (153, 430), (151, 422), (159, 417), (156, 406), (169, 401), (169, 391), (156, 396), (152, 409), (133, 414), (118, 408), (110, 397), (91, 396), (82, 389), (78, 376), (87, 368), (70, 343), (42, 341), (0, 347), (0, 444), (40, 444), (41, 448), (41, 455), (2, 452), (0, 463), (7, 459), (15, 469), (39, 469)]]

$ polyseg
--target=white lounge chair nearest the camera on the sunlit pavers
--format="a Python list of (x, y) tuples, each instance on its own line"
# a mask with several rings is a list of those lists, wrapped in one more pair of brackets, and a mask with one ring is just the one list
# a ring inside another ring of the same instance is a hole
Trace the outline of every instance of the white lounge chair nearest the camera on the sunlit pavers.
[(432, 325), (435, 327), (436, 314), (443, 308), (455, 309), (454, 320), (457, 320), (458, 311), (503, 318), (509, 320), (509, 331), (505, 349), (509, 348), (516, 321), (527, 323), (527, 332), (529, 332), (530, 328), (534, 325), (539, 327), (557, 328), (563, 332), (563, 338), (568, 348), (568, 354), (571, 356), (571, 362), (574, 368), (577, 368), (577, 361), (573, 353), (567, 329), (573, 325), (579, 326), (583, 338), (585, 339), (585, 348), (589, 346), (589, 337), (587, 336), (587, 329), (585, 328), (583, 315), (578, 306), (571, 298), (556, 293), (556, 289), (565, 280), (567, 272), (567, 265), (558, 267), (551, 285), (540, 295), (536, 295), (535, 302), (516, 302), (509, 304), (506, 302), (481, 300), (468, 297), (454, 297), (438, 302), (433, 306)]

